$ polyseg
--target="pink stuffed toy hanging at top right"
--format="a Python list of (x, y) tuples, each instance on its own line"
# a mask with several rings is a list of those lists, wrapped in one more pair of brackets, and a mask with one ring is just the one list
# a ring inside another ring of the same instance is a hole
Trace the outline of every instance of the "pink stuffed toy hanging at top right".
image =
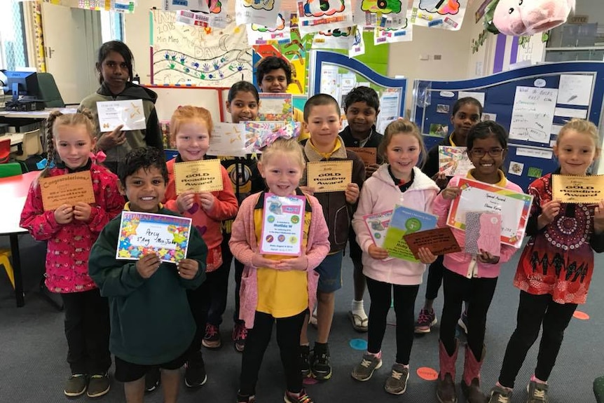
[(533, 35), (566, 22), (575, 0), (500, 0), (493, 24), (506, 35)]

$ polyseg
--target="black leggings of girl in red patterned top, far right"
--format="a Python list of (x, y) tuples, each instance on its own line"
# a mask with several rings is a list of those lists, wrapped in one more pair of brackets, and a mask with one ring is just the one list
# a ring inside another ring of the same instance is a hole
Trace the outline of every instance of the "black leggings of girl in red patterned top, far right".
[(551, 300), (550, 294), (533, 295), (521, 291), (516, 330), (505, 349), (499, 383), (507, 388), (514, 388), (514, 381), (526, 358), (526, 353), (537, 341), (542, 325), (543, 334), (537, 355), (535, 376), (541, 381), (547, 381), (556, 364), (564, 330), (568, 327), (576, 309), (576, 303), (556, 303)]

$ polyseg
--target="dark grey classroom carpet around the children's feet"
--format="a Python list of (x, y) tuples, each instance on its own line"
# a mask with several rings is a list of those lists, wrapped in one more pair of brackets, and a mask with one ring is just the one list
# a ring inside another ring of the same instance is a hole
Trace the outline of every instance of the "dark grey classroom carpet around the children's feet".
[[(67, 343), (63, 334), (63, 313), (51, 306), (38, 292), (39, 280), (43, 273), (45, 245), (34, 242), (29, 235), (22, 235), (20, 242), (27, 290), (24, 308), (15, 308), (11, 285), (4, 271), (0, 271), (0, 402), (66, 402), (67, 397), (64, 397), (62, 388), (69, 376), (69, 367), (65, 362)], [(6, 237), (0, 238), (0, 247), (7, 244)], [(512, 277), (518, 257), (519, 253), (502, 268), (489, 311), (486, 332), (487, 356), (482, 371), (483, 392), (487, 392), (497, 380), (507, 340), (514, 330), (519, 291), (512, 286)], [(549, 380), (552, 403), (595, 402), (592, 382), (594, 378), (604, 374), (604, 293), (601, 291), (604, 287), (604, 273), (601, 270), (603, 267), (604, 257), (596, 258), (596, 273), (591, 283), (588, 302), (579, 306), (579, 310), (587, 313), (590, 319), (573, 319), (565, 334), (561, 354)], [(336, 294), (336, 313), (329, 341), (334, 375), (327, 383), (308, 385), (309, 395), (318, 403), (437, 402), (434, 381), (423, 380), (418, 376), (417, 370), (420, 367), (438, 369), (439, 325), (434, 327), (432, 333), (416, 338), (411, 355), (411, 376), (404, 395), (388, 395), (383, 390), (383, 383), (394, 361), (394, 325), (388, 326), (385, 334), (383, 367), (376, 371), (371, 380), (364, 383), (354, 381), (350, 377), (352, 367), (362, 357), (362, 351), (351, 348), (350, 341), (366, 340), (366, 334), (355, 332), (347, 315), (352, 299), (352, 262), (348, 257), (344, 260), (343, 278), (343, 289)], [(208, 381), (198, 390), (188, 390), (183, 386), (179, 402), (235, 402), (241, 355), (235, 352), (230, 342), (232, 285), (231, 275), (229, 306), (221, 326), (224, 344), (219, 350), (203, 350)], [(423, 303), (424, 291), (423, 285), (418, 294), (416, 312)], [(442, 293), (437, 299), (438, 313), (441, 304)], [(369, 310), (368, 301), (366, 309)], [(389, 315), (389, 320), (394, 322), (393, 313)], [(311, 327), (310, 339), (314, 336), (315, 330)], [(526, 383), (535, 366), (536, 350), (537, 346), (533, 346), (518, 376), (513, 403), (521, 403), (526, 399)], [(458, 382), (462, 365), (460, 354)], [(284, 377), (274, 336), (262, 364), (256, 392), (259, 403), (283, 401)], [(92, 399), (84, 396), (70, 400), (87, 402)], [(123, 385), (114, 381), (109, 394), (97, 400), (125, 402)], [(163, 402), (161, 390), (146, 396), (145, 401)], [(465, 402), (461, 393), (460, 402)]]

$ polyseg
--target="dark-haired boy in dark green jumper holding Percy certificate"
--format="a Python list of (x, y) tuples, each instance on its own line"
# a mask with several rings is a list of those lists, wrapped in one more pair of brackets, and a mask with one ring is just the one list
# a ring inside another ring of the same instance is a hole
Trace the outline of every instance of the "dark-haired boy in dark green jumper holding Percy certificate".
[[(164, 233), (173, 234), (174, 226), (161, 224), (165, 222), (163, 216), (178, 216), (160, 203), (168, 179), (163, 152), (153, 147), (130, 151), (122, 162), (119, 179), (121, 193), (130, 200), (124, 210), (147, 213), (147, 217), (155, 217), (151, 220), (157, 220), (145, 224), (146, 231), (142, 228), (142, 232), (164, 239)], [(186, 256), (178, 257), (177, 264), (160, 260), (165, 247), (149, 247), (154, 252), (145, 249), (137, 253), (138, 260), (132, 260), (135, 255), (123, 246), (123, 233), (129, 233), (128, 238), (144, 238), (137, 233), (143, 222), (132, 221), (126, 228), (121, 218), (116, 217), (103, 228), (88, 262), (90, 277), (101, 294), (109, 297), (109, 349), (115, 355), (115, 378), (124, 383), (126, 402), (142, 402), (145, 374), (159, 368), (163, 401), (174, 403), (180, 386), (179, 369), (188, 358), (195, 336), (195, 320), (185, 290), (199, 287), (205, 279), (207, 247), (193, 226), (188, 241), (178, 241), (186, 245)], [(118, 246), (120, 252), (127, 252), (120, 253), (120, 258), (116, 257)]]

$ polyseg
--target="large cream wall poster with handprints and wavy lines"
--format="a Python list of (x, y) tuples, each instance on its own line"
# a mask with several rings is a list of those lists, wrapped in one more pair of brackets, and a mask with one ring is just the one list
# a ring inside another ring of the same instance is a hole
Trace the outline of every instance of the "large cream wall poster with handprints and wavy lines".
[[(212, 1), (211, 13), (218, 9), (223, 3)], [(252, 48), (235, 21), (224, 29), (181, 25), (175, 13), (160, 10), (151, 10), (150, 20), (151, 83), (224, 88), (252, 81)]]

